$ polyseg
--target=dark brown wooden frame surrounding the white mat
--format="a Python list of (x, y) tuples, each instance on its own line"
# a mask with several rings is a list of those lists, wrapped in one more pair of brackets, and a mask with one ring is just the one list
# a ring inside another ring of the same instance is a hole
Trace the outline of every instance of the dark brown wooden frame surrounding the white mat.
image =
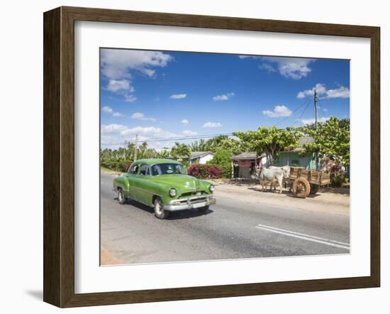
[[(266, 31), (371, 40), (371, 274), (143, 291), (74, 293), (74, 21)], [(44, 13), (44, 290), (59, 307), (378, 287), (380, 283), (380, 29), (252, 18), (60, 7)]]

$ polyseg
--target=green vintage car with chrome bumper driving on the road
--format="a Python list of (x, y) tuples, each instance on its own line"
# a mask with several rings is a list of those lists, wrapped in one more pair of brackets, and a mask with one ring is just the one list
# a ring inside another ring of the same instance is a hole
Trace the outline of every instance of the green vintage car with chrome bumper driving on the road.
[(128, 173), (113, 180), (118, 202), (128, 199), (155, 209), (155, 216), (168, 217), (169, 212), (197, 208), (204, 212), (216, 203), (214, 185), (186, 174), (181, 163), (170, 159), (140, 159)]

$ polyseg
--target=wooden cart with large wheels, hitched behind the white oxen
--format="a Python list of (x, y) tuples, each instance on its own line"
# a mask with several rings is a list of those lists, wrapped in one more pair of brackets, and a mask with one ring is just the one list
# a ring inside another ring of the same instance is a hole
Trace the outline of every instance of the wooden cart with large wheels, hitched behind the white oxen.
[(330, 175), (319, 170), (291, 167), (289, 180), (296, 197), (305, 198), (309, 194), (316, 194), (321, 186), (329, 185)]

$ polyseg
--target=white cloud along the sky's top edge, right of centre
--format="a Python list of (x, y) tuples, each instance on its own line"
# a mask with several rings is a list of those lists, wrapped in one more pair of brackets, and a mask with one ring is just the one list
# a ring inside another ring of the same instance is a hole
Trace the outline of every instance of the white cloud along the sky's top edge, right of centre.
[[(314, 62), (314, 59), (307, 58), (286, 58), (286, 57), (260, 57), (256, 55), (240, 55), (240, 59), (252, 58), (256, 60), (264, 61), (260, 65), (260, 69), (267, 70), (268, 72), (275, 72), (278, 70), (280, 75), (291, 78), (293, 80), (299, 80), (302, 77), (306, 77), (311, 68), (308, 65)], [(272, 65), (275, 64), (277, 69)]]

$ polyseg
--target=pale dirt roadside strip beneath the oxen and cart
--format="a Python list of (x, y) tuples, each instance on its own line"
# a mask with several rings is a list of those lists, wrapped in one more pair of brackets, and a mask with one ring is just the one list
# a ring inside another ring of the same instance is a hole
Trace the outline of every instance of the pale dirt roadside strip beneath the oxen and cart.
[(313, 212), (350, 215), (350, 190), (348, 188), (322, 188), (317, 194), (301, 199), (289, 193), (288, 189), (284, 189), (282, 194), (279, 194), (279, 190), (262, 192), (261, 185), (256, 183), (234, 183), (223, 180), (216, 180), (213, 183), (216, 185), (214, 194), (219, 197)]

